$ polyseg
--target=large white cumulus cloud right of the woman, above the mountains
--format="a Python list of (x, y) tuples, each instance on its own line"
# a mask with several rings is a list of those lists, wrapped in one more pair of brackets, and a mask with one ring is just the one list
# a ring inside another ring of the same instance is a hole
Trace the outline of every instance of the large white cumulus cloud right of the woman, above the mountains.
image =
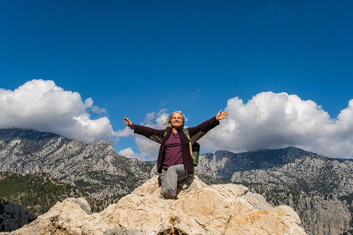
[(227, 101), (228, 119), (200, 139), (202, 148), (243, 152), (296, 146), (328, 157), (353, 156), (353, 100), (331, 119), (313, 101), (263, 92), (248, 103)]

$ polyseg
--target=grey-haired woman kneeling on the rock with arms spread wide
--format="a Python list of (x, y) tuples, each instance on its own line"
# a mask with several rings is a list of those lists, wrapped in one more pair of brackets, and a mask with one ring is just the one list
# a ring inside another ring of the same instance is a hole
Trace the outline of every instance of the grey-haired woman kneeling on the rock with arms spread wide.
[[(191, 144), (203, 137), (216, 125), (219, 125), (219, 120), (227, 119), (227, 117), (228, 112), (222, 112), (221, 110), (212, 119), (194, 128), (187, 128)], [(184, 115), (182, 112), (173, 112), (165, 123), (167, 127), (163, 130), (133, 124), (126, 117), (124, 117), (123, 121), (135, 133), (161, 144), (157, 159), (157, 172), (161, 173), (160, 198), (176, 199), (178, 181), (184, 180), (194, 172), (189, 139), (182, 131), (184, 128)]]

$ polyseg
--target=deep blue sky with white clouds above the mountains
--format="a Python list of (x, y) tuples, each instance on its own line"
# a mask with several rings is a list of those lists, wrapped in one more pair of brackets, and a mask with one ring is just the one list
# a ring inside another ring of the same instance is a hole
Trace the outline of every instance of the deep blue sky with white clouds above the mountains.
[(132, 123), (228, 119), (201, 153), (353, 157), (353, 1), (0, 1), (0, 128), (157, 158)]

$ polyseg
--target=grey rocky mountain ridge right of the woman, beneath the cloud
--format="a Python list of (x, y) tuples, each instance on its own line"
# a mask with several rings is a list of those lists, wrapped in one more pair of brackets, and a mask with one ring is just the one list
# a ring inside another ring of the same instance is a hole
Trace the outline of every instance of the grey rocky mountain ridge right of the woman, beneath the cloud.
[(196, 173), (233, 183), (280, 184), (306, 193), (353, 193), (353, 160), (329, 158), (299, 148), (206, 153)]

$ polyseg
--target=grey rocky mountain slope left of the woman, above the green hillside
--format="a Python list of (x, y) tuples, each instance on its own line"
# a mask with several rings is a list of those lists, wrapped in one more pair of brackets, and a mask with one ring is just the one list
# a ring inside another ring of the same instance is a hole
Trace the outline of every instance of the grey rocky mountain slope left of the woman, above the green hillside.
[(0, 130), (0, 171), (49, 173), (101, 199), (130, 193), (150, 178), (153, 166), (115, 153), (109, 143), (86, 144), (58, 134)]

